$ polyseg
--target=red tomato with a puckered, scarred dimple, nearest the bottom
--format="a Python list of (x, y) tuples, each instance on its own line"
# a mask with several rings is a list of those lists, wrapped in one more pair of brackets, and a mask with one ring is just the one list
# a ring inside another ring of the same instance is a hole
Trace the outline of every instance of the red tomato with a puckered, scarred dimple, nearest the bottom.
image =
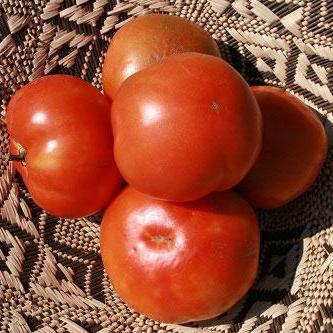
[(214, 317), (253, 284), (259, 228), (232, 191), (188, 203), (152, 199), (127, 187), (101, 225), (101, 255), (116, 291), (152, 319)]

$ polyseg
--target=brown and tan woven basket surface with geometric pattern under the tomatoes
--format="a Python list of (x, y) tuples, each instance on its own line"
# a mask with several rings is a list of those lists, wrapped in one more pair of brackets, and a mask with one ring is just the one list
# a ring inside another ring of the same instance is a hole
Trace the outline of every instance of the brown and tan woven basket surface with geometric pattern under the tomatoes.
[[(250, 83), (285, 87), (318, 112), (331, 138), (315, 185), (281, 209), (258, 212), (254, 287), (228, 313), (187, 325), (128, 309), (102, 267), (101, 217), (46, 214), (5, 161), (13, 92), (52, 73), (102, 89), (115, 29), (150, 12), (199, 23)], [(333, 0), (0, 0), (0, 332), (333, 332), (332, 38)]]

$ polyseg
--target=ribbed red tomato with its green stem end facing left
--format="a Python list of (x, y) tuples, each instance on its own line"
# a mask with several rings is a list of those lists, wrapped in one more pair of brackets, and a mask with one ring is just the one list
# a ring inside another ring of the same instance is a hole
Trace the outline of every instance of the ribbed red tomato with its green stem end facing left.
[(105, 207), (120, 183), (110, 105), (89, 83), (47, 76), (18, 90), (7, 107), (11, 152), (32, 198), (74, 218)]

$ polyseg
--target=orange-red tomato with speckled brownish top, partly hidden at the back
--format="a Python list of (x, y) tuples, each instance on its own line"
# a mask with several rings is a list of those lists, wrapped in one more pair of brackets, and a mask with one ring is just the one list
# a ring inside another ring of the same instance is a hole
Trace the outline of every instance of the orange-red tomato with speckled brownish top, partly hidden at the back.
[(103, 65), (105, 94), (113, 99), (130, 75), (182, 52), (220, 56), (219, 48), (208, 32), (189, 20), (161, 14), (135, 18), (111, 40)]

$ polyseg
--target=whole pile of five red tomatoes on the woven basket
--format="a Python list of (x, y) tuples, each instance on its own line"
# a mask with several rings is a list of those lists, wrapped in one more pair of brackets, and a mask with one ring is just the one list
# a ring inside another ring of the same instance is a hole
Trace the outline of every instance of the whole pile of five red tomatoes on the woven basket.
[(54, 75), (18, 90), (10, 159), (45, 211), (106, 209), (103, 263), (134, 310), (169, 323), (228, 310), (258, 270), (252, 207), (313, 184), (328, 149), (321, 122), (282, 89), (250, 88), (207, 32), (175, 16), (122, 27), (103, 86)]

